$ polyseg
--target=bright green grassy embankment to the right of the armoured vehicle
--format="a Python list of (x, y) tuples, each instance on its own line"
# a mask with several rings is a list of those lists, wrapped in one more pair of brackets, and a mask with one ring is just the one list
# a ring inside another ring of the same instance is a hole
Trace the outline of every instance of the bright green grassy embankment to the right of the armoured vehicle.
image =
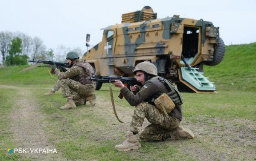
[(204, 75), (218, 90), (256, 91), (256, 43), (226, 46), (217, 66), (204, 66)]

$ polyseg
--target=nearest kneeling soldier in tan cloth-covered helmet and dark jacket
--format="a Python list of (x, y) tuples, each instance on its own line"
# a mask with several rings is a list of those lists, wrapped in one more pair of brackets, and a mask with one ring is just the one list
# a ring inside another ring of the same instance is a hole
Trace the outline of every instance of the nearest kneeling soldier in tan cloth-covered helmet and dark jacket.
[[(124, 84), (115, 80), (113, 83), (121, 89), (122, 95), (130, 103), (136, 106), (134, 115), (132, 116), (130, 131), (127, 132), (127, 139), (119, 145), (116, 150), (128, 151), (136, 150), (141, 147), (139, 137), (143, 141), (164, 141), (194, 138), (194, 134), (189, 129), (179, 126), (182, 120), (182, 98), (177, 88), (172, 85), (170, 80), (157, 76), (157, 68), (153, 63), (144, 61), (139, 63), (133, 72), (137, 76), (137, 81), (143, 84), (143, 87), (137, 85), (131, 87), (131, 93)], [(136, 94), (135, 94), (136, 93)], [(154, 104), (163, 93), (168, 94), (172, 98), (173, 108), (168, 114), (164, 114), (160, 108)], [(144, 118), (151, 123), (140, 133)]]

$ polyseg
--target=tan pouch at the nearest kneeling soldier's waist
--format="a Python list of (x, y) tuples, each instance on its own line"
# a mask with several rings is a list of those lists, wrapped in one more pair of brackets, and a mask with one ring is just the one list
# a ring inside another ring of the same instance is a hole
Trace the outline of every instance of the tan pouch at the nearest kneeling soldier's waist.
[(175, 108), (175, 103), (172, 99), (163, 93), (157, 99), (154, 100), (154, 104), (164, 115), (168, 116), (168, 114)]

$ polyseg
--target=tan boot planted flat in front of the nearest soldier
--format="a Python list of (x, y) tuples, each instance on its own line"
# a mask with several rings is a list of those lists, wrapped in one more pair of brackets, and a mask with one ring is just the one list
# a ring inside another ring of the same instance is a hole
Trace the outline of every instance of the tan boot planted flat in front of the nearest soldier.
[(137, 150), (141, 147), (139, 142), (139, 134), (133, 135), (131, 131), (128, 131), (126, 134), (126, 140), (119, 145), (116, 145), (116, 150), (119, 151), (128, 151), (128, 150)]

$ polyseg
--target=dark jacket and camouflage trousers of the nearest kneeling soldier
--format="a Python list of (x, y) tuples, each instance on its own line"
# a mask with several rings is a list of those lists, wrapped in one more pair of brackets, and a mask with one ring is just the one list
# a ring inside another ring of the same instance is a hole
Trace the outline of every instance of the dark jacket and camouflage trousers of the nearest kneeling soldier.
[(122, 88), (121, 92), (131, 106), (136, 105), (130, 130), (136, 133), (140, 132), (144, 118), (147, 118), (151, 123), (151, 125), (145, 127), (143, 132), (141, 132), (141, 140), (166, 140), (170, 136), (169, 132), (179, 126), (182, 120), (182, 109), (180, 105), (176, 105), (175, 109), (166, 116), (155, 105), (148, 103), (153, 95), (168, 92), (165, 84), (160, 80), (148, 80), (136, 95), (129, 92), (128, 88)]

